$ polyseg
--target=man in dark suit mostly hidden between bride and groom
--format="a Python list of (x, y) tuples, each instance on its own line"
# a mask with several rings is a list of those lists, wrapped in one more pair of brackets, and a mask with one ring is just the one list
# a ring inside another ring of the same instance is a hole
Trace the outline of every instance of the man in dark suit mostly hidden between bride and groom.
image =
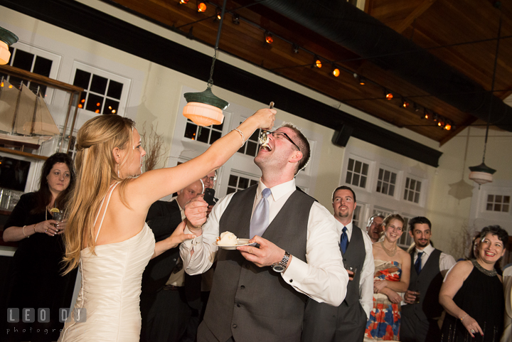
[[(174, 232), (184, 218), (186, 203), (202, 191), (201, 181), (196, 181), (178, 191), (172, 201), (156, 201), (151, 205), (146, 222), (156, 241), (164, 240)], [(191, 317), (198, 316), (200, 291), (201, 279), (195, 294), (186, 292), (178, 247), (150, 260), (142, 274), (141, 341), (186, 341), (189, 333), (193, 335), (193, 341), (195, 332), (187, 329)]]

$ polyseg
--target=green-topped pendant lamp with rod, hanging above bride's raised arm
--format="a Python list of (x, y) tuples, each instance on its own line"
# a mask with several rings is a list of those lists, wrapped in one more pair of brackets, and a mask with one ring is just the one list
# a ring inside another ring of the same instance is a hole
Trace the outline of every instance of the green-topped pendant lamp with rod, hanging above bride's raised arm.
[(187, 105), (183, 108), (183, 116), (191, 119), (198, 126), (210, 126), (211, 124), (222, 124), (224, 121), (223, 110), (228, 108), (229, 102), (216, 97), (211, 87), (213, 85), (213, 67), (217, 59), (218, 43), (220, 40), (220, 31), (224, 21), (224, 12), (226, 1), (224, 0), (223, 9), (220, 14), (219, 28), (217, 32), (217, 41), (215, 42), (215, 53), (213, 54), (212, 66), (210, 69), (210, 78), (208, 87), (203, 92), (186, 92), (185, 100)]

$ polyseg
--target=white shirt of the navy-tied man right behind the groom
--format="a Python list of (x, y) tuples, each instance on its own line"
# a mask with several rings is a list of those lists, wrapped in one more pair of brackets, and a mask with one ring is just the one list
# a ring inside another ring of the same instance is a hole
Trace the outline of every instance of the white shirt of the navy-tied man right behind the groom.
[[(352, 221), (345, 227), (347, 228), (346, 233), (348, 236), (348, 242), (350, 242), (353, 230)], [(343, 224), (338, 220), (336, 220), (336, 230), (340, 237), (338, 240), (341, 240)], [(370, 311), (373, 308), (373, 275), (375, 273), (375, 261), (373, 260), (373, 246), (371, 239), (365, 231), (361, 230), (361, 233), (363, 233), (366, 257), (363, 269), (357, 270), (357, 272), (361, 272), (361, 277), (359, 278), (359, 302), (366, 312), (366, 317), (370, 319)]]

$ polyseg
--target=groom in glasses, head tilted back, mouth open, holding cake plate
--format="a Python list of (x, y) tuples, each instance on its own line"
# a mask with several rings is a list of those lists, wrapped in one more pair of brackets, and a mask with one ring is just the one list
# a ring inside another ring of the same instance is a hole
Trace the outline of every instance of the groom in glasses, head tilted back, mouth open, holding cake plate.
[[(197, 236), (180, 247), (186, 272), (205, 272), (217, 255), (198, 341), (300, 341), (308, 297), (334, 306), (345, 299), (336, 222), (295, 186), (309, 143), (292, 124), (268, 138), (255, 157), (262, 171), (257, 186), (220, 199), (202, 228), (206, 204), (186, 206), (186, 231)], [(219, 249), (215, 239), (228, 230), (256, 245)]]

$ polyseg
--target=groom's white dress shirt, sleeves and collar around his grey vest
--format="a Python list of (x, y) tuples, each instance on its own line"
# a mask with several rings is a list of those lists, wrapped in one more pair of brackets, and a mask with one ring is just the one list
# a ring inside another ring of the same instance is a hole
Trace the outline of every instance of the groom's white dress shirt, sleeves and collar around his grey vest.
[[(252, 206), (253, 213), (265, 188), (267, 187), (260, 179)], [(289, 196), (296, 191), (295, 180), (279, 184), (270, 190), (272, 196), (267, 200), (270, 205), (269, 223), (272, 223)], [(231, 193), (225, 196), (213, 207), (208, 221), (203, 225), (201, 236), (181, 243), (180, 254), (188, 274), (200, 274), (211, 267), (218, 248), (213, 245), (213, 242), (219, 236), (219, 220), (233, 195)], [(186, 233), (190, 234), (188, 228)], [(306, 294), (316, 301), (334, 306), (340, 305), (346, 296), (348, 273), (343, 267), (338, 240), (339, 234), (336, 232), (336, 220), (333, 215), (323, 205), (314, 202), (307, 225), (307, 262), (303, 262), (298, 257), (292, 257), (286, 272), (281, 273), (283, 279), (297, 292)], [(192, 249), (194, 252), (191, 257)], [(292, 283), (290, 279), (293, 279)]]

